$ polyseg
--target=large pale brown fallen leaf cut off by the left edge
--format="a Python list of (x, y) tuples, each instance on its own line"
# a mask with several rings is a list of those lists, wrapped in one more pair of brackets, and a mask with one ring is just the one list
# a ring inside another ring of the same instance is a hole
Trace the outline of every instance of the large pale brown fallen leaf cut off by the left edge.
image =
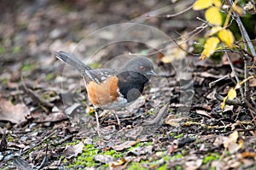
[(9, 100), (0, 99), (0, 121), (20, 123), (30, 114), (25, 104), (13, 105)]

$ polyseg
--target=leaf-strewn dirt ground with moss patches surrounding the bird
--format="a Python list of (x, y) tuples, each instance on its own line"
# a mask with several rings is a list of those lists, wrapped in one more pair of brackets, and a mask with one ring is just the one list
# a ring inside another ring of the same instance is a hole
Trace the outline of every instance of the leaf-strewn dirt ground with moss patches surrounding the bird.
[[(205, 31), (183, 36), (203, 15), (166, 17), (192, 3), (0, 1), (0, 168), (255, 169), (255, 114), (241, 100), (221, 110), (236, 86), (229, 62), (198, 59), (193, 45)], [(191, 53), (177, 47), (184, 40)], [(143, 55), (159, 76), (117, 111), (120, 125), (113, 111), (100, 111), (99, 136), (83, 78), (55, 58), (60, 50), (92, 68)], [(242, 59), (230, 55), (242, 75)]]

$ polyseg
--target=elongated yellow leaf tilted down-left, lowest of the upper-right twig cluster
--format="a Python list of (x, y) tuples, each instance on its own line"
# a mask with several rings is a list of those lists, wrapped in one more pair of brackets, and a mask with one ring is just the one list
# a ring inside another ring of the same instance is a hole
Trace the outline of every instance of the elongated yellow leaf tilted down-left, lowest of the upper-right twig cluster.
[(218, 42), (218, 37), (209, 37), (204, 45), (204, 50), (201, 53), (200, 59), (206, 59), (207, 57), (210, 57), (210, 55), (215, 52), (215, 49), (218, 46)]

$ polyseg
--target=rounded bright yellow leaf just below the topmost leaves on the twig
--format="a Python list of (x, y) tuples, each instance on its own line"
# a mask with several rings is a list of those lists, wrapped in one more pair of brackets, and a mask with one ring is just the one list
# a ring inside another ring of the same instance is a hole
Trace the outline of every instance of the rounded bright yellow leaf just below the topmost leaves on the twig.
[(206, 19), (207, 21), (215, 26), (220, 26), (222, 24), (221, 14), (217, 7), (208, 8), (206, 11)]

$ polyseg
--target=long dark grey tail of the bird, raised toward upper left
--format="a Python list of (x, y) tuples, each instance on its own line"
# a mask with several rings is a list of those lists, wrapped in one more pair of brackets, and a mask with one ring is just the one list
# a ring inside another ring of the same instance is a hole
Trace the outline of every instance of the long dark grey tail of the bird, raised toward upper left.
[(85, 65), (80, 59), (73, 56), (73, 54), (68, 54), (64, 51), (55, 52), (55, 57), (61, 59), (63, 62), (72, 65), (79, 72), (83, 73), (84, 71), (91, 70), (90, 66)]

